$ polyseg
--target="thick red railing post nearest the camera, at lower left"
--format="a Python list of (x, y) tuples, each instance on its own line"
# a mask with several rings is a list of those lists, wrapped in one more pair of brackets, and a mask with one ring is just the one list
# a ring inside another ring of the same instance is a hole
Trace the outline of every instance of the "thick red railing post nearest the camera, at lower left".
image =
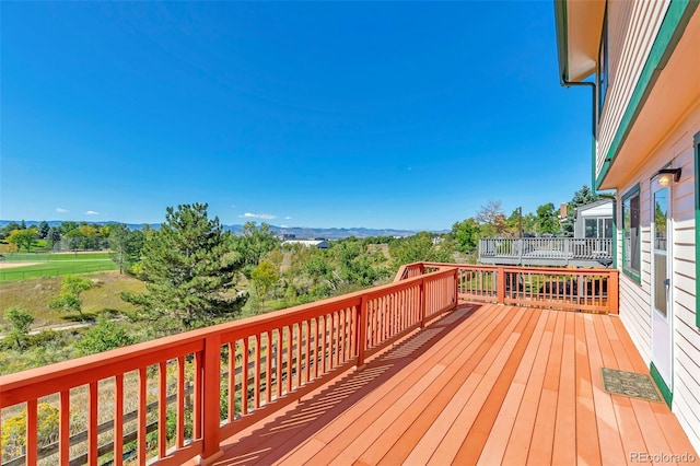
[(219, 334), (205, 338), (202, 363), (202, 451), (199, 464), (208, 465), (223, 455), (223, 451), (219, 446), (219, 392), (221, 389), (221, 336)]

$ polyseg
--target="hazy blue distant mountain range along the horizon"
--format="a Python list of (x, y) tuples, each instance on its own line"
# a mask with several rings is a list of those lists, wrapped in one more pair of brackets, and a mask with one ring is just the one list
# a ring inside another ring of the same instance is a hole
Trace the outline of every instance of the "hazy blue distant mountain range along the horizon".
[[(13, 220), (0, 220), (0, 226), (4, 226)], [(14, 220), (20, 223), (20, 220)], [(25, 220), (27, 226), (38, 225), (40, 221), (36, 220)], [(57, 226), (63, 223), (63, 220), (47, 220), (46, 223), (49, 226)], [(120, 223), (120, 222), (88, 222), (100, 225), (107, 225), (112, 223)], [(126, 223), (128, 228), (131, 230), (138, 230), (143, 226), (143, 223)], [(149, 223), (154, 230), (161, 228), (160, 223)], [(223, 225), (224, 230), (233, 232), (233, 234), (241, 234), (243, 230), (243, 225)], [(313, 237), (323, 237), (325, 240), (341, 240), (345, 237), (368, 237), (368, 236), (411, 236), (417, 232), (410, 230), (394, 230), (394, 229), (365, 229), (365, 228), (352, 228), (352, 229), (320, 229), (320, 228), (307, 228), (307, 226), (275, 226), (270, 225), (270, 230), (275, 232), (275, 234), (285, 234), (285, 235), (294, 235), (296, 238), (313, 238)]]

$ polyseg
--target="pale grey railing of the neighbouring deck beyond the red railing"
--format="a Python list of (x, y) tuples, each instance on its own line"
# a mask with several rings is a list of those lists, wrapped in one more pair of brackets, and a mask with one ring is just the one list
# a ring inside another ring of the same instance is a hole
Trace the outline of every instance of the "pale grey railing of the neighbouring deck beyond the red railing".
[(524, 237), (479, 240), (479, 263), (522, 266), (612, 264), (612, 240), (597, 237)]

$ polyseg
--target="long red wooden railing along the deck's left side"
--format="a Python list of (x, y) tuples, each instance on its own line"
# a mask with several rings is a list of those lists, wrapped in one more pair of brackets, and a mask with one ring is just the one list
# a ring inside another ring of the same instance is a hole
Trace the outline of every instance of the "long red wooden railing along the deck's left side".
[[(0, 415), (24, 412), (26, 419), (24, 454), (5, 456), (3, 444), (3, 461), (33, 465), (48, 457), (55, 464), (93, 465), (107, 454), (120, 465), (125, 443), (133, 441), (130, 450), (139, 464), (150, 456), (159, 464), (182, 464), (198, 455), (210, 462), (220, 454), (222, 439), (347, 369), (362, 366), (368, 357), (455, 308), (462, 271), (446, 265), (440, 269), (0, 376)], [(38, 405), (44, 403), (59, 413), (50, 445), (38, 442)], [(108, 420), (101, 422), (105, 412)], [(77, 435), (71, 435), (77, 417), (86, 424), (84, 452), (78, 453)], [(168, 435), (167, 426), (174, 426), (174, 434)]]

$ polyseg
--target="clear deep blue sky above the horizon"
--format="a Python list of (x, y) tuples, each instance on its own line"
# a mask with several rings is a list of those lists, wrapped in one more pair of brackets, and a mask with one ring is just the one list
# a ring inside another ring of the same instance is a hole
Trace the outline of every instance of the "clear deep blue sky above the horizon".
[(591, 180), (541, 2), (2, 2), (0, 218), (450, 229)]

